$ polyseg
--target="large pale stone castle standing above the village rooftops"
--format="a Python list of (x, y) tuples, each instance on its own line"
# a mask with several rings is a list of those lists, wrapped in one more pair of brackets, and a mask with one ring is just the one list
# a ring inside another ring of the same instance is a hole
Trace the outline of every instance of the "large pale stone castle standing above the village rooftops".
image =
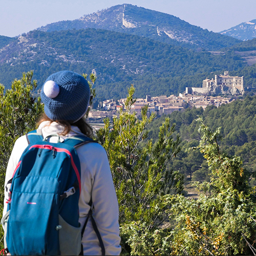
[(186, 94), (194, 95), (238, 95), (244, 93), (244, 77), (229, 76), (228, 71), (224, 75), (215, 75), (215, 79), (204, 79), (202, 88), (186, 87)]

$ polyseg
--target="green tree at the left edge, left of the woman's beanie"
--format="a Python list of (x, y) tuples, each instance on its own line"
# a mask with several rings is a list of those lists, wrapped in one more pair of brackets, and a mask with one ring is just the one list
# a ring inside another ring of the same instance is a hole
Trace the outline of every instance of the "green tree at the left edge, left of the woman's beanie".
[[(21, 79), (12, 82), (10, 90), (0, 84), (0, 184), (2, 218), (4, 184), (7, 164), (15, 141), (36, 129), (36, 120), (43, 112), (43, 105), (36, 94), (37, 81), (33, 71), (23, 73)], [(1, 237), (3, 236), (3, 230)], [(2, 244), (1, 247), (4, 245)]]

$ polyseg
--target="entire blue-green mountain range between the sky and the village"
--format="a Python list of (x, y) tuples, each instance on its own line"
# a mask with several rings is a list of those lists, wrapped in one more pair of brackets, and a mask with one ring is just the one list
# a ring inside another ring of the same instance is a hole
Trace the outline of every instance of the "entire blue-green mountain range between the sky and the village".
[(8, 89), (12, 80), (34, 70), (41, 87), (60, 70), (93, 72), (97, 97), (117, 99), (131, 84), (136, 97), (178, 94), (229, 70), (245, 76), (245, 87), (256, 87), (255, 47), (255, 40), (241, 41), (125, 4), (19, 37), (0, 36), (0, 82)]

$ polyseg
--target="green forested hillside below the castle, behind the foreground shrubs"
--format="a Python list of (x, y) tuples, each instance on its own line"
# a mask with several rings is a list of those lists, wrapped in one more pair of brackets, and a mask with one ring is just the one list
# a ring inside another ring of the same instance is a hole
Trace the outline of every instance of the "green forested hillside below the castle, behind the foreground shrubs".
[[(172, 162), (174, 169), (180, 169), (194, 180), (209, 180), (208, 167), (203, 155), (198, 150), (185, 152), (186, 148), (197, 146), (201, 138), (198, 129), (198, 117), (215, 131), (221, 127), (220, 146), (228, 155), (240, 156), (244, 167), (252, 174), (256, 173), (256, 96), (247, 96), (219, 108), (207, 106), (206, 110), (186, 109), (185, 112), (173, 112), (169, 117), (176, 123), (176, 135), (181, 136), (182, 151)], [(157, 138), (157, 130), (164, 117), (156, 119), (151, 127), (150, 137)], [(195, 172), (195, 173), (194, 173)], [(251, 181), (254, 184), (253, 180)]]

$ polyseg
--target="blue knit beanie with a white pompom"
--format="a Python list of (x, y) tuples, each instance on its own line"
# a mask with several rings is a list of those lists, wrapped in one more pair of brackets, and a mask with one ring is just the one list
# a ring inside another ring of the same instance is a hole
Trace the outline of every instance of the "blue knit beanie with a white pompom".
[(41, 99), (50, 119), (76, 122), (87, 112), (90, 87), (81, 75), (60, 71), (47, 78), (41, 90)]

